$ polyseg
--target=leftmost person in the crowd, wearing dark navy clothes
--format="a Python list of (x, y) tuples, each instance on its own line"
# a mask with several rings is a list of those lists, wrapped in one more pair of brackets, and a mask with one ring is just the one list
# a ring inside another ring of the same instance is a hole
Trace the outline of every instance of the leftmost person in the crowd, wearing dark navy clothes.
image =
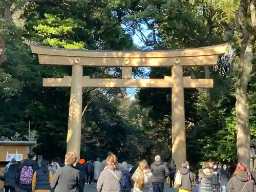
[(18, 163), (13, 158), (9, 164), (8, 171), (4, 176), (0, 176), (0, 180), (4, 181), (4, 189), (6, 192), (15, 192), (15, 188), (18, 184)]

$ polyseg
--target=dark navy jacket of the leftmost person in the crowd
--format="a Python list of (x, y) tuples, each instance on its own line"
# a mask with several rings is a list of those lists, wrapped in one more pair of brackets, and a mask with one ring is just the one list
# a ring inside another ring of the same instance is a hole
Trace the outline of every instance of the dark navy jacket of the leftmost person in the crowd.
[(4, 186), (16, 187), (18, 184), (18, 163), (11, 163), (8, 172), (4, 176), (0, 176), (0, 180), (4, 181)]

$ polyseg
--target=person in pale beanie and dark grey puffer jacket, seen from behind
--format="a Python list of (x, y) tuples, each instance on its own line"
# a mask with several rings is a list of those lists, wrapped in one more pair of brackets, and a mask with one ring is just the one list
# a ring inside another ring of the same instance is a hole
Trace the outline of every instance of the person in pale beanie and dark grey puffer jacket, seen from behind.
[(151, 164), (151, 171), (155, 179), (152, 183), (154, 192), (163, 192), (165, 179), (169, 176), (169, 169), (157, 155), (155, 162)]

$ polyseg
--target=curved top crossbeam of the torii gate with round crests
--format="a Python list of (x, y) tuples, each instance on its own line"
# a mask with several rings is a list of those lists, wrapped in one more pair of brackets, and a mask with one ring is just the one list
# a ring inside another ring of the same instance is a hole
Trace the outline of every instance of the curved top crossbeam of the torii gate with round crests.
[(213, 66), (227, 44), (183, 50), (162, 51), (92, 51), (31, 45), (44, 65), (87, 67), (171, 67)]

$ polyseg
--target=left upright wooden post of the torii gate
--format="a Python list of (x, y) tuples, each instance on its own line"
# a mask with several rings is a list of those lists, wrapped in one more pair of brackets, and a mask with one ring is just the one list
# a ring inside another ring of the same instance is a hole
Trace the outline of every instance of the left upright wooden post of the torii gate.
[(67, 152), (76, 152), (78, 160), (80, 157), (81, 145), (82, 73), (82, 66), (72, 66)]

